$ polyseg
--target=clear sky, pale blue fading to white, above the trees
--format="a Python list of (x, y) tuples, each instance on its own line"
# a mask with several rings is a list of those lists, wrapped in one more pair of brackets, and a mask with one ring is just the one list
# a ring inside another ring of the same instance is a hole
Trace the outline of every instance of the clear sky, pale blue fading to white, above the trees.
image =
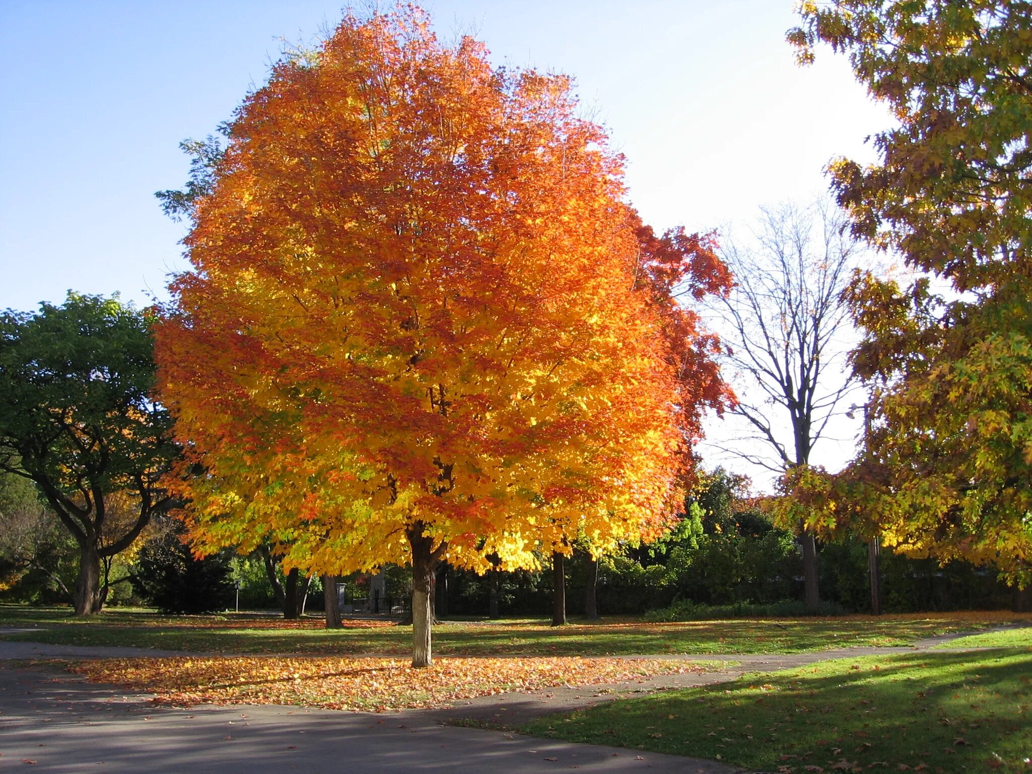
[[(498, 63), (576, 77), (627, 157), (659, 229), (744, 224), (826, 190), (836, 155), (872, 158), (890, 118), (824, 51), (799, 68), (792, 0), (437, 0), (439, 32), (476, 32)], [(178, 143), (264, 82), (281, 39), (342, 15), (323, 0), (0, 0), (0, 309), (68, 289), (140, 304), (184, 266)]]

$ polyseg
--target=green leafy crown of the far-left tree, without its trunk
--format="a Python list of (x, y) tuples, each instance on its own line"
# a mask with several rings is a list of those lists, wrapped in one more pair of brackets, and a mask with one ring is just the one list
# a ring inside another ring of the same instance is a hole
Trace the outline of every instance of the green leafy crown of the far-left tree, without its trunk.
[[(167, 413), (152, 402), (148, 316), (117, 297), (69, 293), (38, 315), (0, 316), (0, 454), (73, 496), (118, 488), (167, 459)], [(160, 465), (159, 465), (160, 466)]]

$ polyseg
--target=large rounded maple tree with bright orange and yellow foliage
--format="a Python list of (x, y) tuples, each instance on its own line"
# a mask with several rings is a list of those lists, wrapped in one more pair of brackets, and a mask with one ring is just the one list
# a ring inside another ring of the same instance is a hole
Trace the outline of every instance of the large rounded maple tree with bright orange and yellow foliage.
[(662, 529), (728, 398), (674, 296), (730, 279), (641, 223), (621, 163), (569, 78), (443, 45), (418, 9), (278, 64), (189, 199), (158, 331), (197, 550), (411, 563), (424, 666), (437, 560)]

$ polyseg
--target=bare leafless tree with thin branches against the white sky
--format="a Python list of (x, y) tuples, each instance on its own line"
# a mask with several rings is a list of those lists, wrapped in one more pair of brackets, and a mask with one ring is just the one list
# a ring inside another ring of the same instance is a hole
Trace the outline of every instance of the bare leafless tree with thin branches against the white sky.
[[(846, 363), (852, 322), (842, 297), (863, 251), (827, 200), (763, 208), (748, 248), (725, 239), (721, 258), (735, 288), (716, 301), (723, 367), (739, 394), (745, 431), (720, 446), (781, 474), (808, 464), (829, 422), (858, 386)], [(736, 384), (737, 382), (737, 384)], [(806, 603), (819, 602), (813, 534), (799, 525)]]

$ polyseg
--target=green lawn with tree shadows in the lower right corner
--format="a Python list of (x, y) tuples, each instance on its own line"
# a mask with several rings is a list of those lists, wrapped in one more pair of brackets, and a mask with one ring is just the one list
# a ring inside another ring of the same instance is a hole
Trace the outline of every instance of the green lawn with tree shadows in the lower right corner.
[(1032, 648), (839, 658), (614, 701), (521, 731), (784, 774), (1028, 772), (1030, 675)]

